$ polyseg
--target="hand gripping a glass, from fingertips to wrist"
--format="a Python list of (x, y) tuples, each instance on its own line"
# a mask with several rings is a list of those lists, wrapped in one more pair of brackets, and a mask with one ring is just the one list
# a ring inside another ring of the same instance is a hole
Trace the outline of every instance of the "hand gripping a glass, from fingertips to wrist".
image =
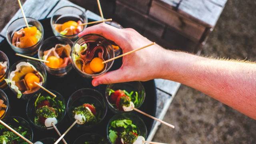
[[(152, 42), (140, 35), (134, 29), (118, 29), (108, 24), (97, 24), (86, 28), (78, 34), (79, 37), (86, 34), (100, 34), (115, 42), (123, 53), (130, 52)], [(163, 68), (163, 55), (167, 50), (157, 44), (123, 56), (123, 64), (118, 70), (107, 72), (103, 76), (92, 80), (93, 86), (99, 84), (112, 84), (129, 81), (147, 81), (160, 78)]]

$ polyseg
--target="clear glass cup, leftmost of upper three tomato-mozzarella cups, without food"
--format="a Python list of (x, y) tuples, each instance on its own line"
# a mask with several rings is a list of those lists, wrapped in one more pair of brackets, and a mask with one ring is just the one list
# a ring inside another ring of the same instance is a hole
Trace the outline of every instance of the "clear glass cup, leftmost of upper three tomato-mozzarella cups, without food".
[[(64, 119), (64, 116), (66, 114), (66, 102), (63, 98), (63, 96), (61, 94), (59, 94), (58, 92), (54, 91), (54, 90), (49, 90), (50, 92), (52, 92), (53, 94), (56, 95), (56, 97), (54, 98), (54, 100), (56, 102), (58, 101), (61, 101), (62, 102), (62, 106), (64, 108), (64, 112), (63, 112), (63, 116), (61, 118), (57, 118), (58, 119), (58, 123), (55, 124), (56, 127), (58, 127), (59, 123)], [(26, 107), (26, 114), (27, 114), (27, 117), (28, 117), (28, 120), (29, 122), (31, 122), (36, 128), (38, 128), (39, 130), (50, 130), (50, 129), (53, 129), (54, 127), (53, 126), (50, 126), (50, 127), (43, 127), (43, 126), (38, 126), (35, 124), (35, 116), (36, 116), (36, 110), (35, 110), (35, 102), (36, 102), (36, 99), (38, 98), (38, 96), (50, 96), (51, 98), (53, 97), (51, 94), (49, 94), (48, 92), (46, 91), (42, 91), (42, 92), (38, 92), (37, 94), (35, 94), (34, 96), (32, 96), (29, 100), (28, 100), (28, 103), (27, 103), (27, 107)]]

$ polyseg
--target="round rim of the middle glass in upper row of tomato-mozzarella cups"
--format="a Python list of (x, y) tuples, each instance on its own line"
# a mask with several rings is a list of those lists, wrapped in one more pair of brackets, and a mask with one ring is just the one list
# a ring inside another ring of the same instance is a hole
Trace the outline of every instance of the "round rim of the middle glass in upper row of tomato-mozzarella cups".
[[(102, 96), (102, 100), (103, 100), (103, 102), (104, 102), (104, 96), (103, 96), (98, 90), (94, 90), (94, 89), (92, 89), (92, 88), (82, 88), (82, 89), (76, 90), (76, 91), (73, 92), (73, 93), (71, 94), (71, 96), (68, 98), (68, 103), (67, 103), (67, 108), (66, 108), (66, 109), (67, 109), (66, 111), (68, 112), (68, 117), (70, 118), (70, 120), (71, 120), (72, 122), (75, 122), (75, 121), (73, 120), (73, 117), (70, 116), (70, 114), (69, 114), (68, 104), (69, 104), (69, 102), (70, 102), (70, 99), (74, 96), (74, 94), (75, 94), (76, 92), (81, 91), (81, 90), (93, 90), (93, 91), (97, 92), (98, 94), (100, 94), (100, 96)], [(102, 120), (105, 118), (107, 112), (108, 112), (108, 106), (107, 106), (107, 104), (106, 104), (106, 112), (105, 112), (104, 116), (101, 118), (101, 120), (100, 120), (99, 122), (97, 122), (96, 124), (93, 124), (92, 126), (97, 126), (98, 124), (100, 124), (100, 123), (102, 122)], [(76, 124), (77, 124), (77, 123), (76, 123)], [(82, 125), (82, 124), (80, 124), (80, 125)]]

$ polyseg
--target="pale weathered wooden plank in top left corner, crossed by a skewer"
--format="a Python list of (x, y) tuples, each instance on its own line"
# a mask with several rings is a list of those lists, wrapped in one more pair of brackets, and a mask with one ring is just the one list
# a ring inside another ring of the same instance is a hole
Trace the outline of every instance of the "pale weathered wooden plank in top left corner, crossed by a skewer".
[[(17, 1), (15, 1), (17, 2)], [(58, 0), (26, 0), (22, 5), (24, 9), (24, 13), (26, 17), (31, 17), (36, 20), (41, 20), (46, 18), (48, 13), (52, 10)], [(18, 2), (17, 2), (18, 4)], [(8, 26), (17, 18), (23, 17), (21, 10), (19, 9), (18, 12), (12, 17), (12, 19), (6, 24), (0, 35), (6, 37), (6, 30)]]

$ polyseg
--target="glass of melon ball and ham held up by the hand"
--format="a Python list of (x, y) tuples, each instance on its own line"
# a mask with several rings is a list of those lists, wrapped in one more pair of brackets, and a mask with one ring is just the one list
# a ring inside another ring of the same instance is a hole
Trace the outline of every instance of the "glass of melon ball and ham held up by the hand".
[(114, 60), (114, 49), (109, 41), (98, 34), (87, 34), (80, 37), (72, 48), (72, 64), (76, 71), (86, 77), (98, 77), (106, 73)]

